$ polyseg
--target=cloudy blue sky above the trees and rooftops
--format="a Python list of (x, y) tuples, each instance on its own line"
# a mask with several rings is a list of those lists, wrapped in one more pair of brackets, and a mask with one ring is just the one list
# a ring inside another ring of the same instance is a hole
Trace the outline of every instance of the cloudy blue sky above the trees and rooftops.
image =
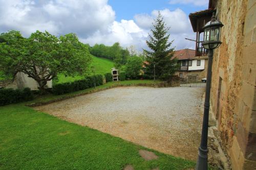
[(145, 41), (160, 11), (176, 50), (195, 48), (188, 14), (207, 9), (208, 0), (0, 0), (0, 33), (36, 30), (55, 36), (76, 33), (89, 43), (147, 48)]

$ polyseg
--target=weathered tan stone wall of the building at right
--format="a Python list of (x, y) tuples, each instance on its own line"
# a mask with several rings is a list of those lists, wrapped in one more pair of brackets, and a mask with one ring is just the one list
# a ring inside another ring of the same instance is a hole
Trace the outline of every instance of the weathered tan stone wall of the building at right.
[(256, 169), (256, 1), (217, 2), (224, 24), (214, 52), (211, 108), (233, 169)]

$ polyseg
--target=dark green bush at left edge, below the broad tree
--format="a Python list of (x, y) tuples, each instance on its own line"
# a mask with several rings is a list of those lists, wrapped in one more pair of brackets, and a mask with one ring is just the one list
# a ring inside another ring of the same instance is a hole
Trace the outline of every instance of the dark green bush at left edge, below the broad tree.
[(3, 88), (0, 89), (0, 106), (8, 105), (11, 103), (25, 102), (34, 98), (33, 92), (30, 88), (24, 89), (12, 89)]

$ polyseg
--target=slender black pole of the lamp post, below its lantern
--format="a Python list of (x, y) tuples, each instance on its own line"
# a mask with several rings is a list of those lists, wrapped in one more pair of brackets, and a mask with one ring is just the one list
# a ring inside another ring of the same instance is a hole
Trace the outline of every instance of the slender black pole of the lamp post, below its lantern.
[(202, 127), (202, 135), (201, 135), (201, 144), (199, 147), (198, 158), (197, 158), (197, 166), (196, 166), (197, 170), (208, 169), (207, 137), (208, 137), (208, 120), (209, 120), (209, 107), (210, 107), (211, 66), (212, 66), (213, 54), (214, 54), (214, 50), (209, 50), (207, 79), (206, 79), (206, 87), (205, 87), (203, 127)]

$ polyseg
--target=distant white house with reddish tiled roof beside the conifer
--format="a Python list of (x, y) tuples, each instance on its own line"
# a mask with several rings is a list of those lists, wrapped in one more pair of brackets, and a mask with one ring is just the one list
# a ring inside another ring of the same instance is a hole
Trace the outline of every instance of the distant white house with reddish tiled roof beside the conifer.
[(197, 55), (196, 50), (185, 48), (176, 51), (174, 57), (180, 65), (175, 75), (180, 78), (206, 78), (207, 56)]

